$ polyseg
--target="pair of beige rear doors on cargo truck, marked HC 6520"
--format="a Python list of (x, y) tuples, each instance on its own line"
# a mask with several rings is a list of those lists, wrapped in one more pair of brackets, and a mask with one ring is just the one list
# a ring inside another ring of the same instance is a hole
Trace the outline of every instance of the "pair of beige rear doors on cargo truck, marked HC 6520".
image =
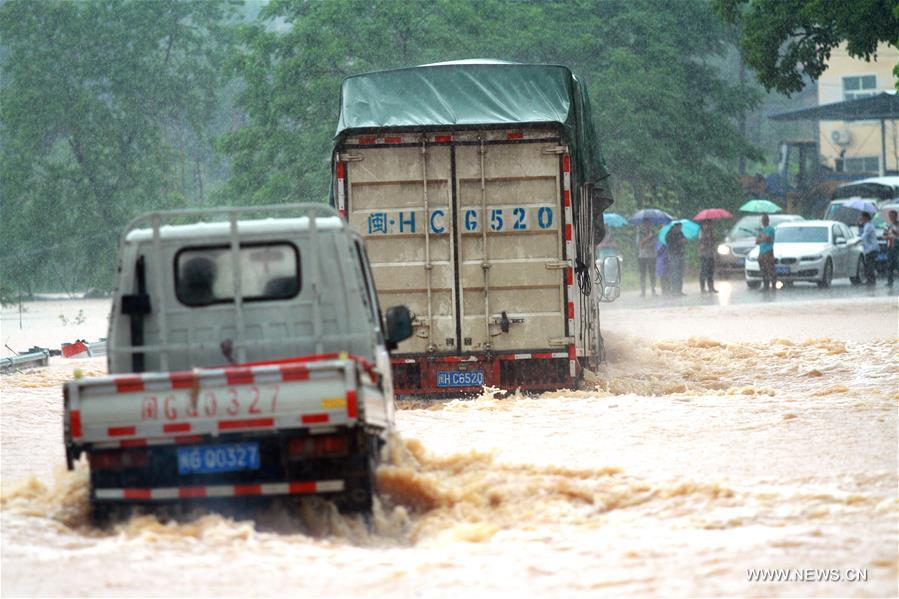
[(381, 305), (416, 315), (398, 353), (567, 345), (562, 151), (552, 131), (347, 139), (338, 185)]

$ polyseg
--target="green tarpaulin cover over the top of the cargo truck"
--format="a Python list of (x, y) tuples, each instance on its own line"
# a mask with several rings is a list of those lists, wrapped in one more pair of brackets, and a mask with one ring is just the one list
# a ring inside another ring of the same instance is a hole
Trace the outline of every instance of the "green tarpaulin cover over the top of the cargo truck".
[(608, 176), (584, 84), (558, 65), (497, 60), (443, 62), (347, 77), (336, 141), (384, 129), (562, 126), (575, 181), (591, 185), (594, 205), (611, 203)]

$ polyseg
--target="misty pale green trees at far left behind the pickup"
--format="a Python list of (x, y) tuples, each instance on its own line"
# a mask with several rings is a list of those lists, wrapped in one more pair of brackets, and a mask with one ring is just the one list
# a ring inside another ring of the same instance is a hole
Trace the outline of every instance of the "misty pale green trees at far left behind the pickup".
[(179, 165), (209, 146), (233, 10), (211, 0), (0, 5), (6, 283), (108, 286), (125, 222), (185, 201)]

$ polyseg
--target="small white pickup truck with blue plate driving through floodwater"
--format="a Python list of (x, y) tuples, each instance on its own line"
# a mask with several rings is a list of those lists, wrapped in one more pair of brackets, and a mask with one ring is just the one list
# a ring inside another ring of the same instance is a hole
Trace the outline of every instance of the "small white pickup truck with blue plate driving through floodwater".
[(368, 510), (388, 349), (411, 331), (403, 306), (382, 326), (362, 240), (332, 208), (147, 214), (120, 242), (109, 375), (64, 385), (68, 466), (87, 455), (98, 521), (303, 494)]

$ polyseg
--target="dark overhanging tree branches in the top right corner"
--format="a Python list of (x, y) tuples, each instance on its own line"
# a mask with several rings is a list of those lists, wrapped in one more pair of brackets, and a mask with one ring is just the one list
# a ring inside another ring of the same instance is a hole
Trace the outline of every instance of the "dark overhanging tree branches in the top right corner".
[(830, 51), (843, 42), (850, 56), (864, 60), (876, 56), (880, 43), (899, 47), (895, 0), (713, 1), (725, 20), (740, 24), (746, 63), (768, 90), (801, 90), (806, 76), (821, 76)]

